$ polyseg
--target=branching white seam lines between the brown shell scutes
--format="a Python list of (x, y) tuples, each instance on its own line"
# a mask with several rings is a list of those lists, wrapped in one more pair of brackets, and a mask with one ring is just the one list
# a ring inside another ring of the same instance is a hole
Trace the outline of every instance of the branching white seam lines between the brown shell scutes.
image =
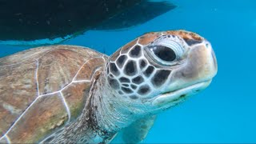
[[(50, 51), (53, 51), (53, 50), (50, 50)], [(50, 52), (50, 51), (49, 51), (49, 52)], [(48, 53), (49, 53), (49, 52), (48, 52)], [(40, 57), (40, 58), (42, 58), (42, 57)], [(40, 58), (38, 58), (38, 59), (40, 59)], [(95, 57), (95, 58), (103, 58), (103, 55), (102, 55), (102, 57)], [(36, 59), (37, 62), (38, 62), (38, 59)], [(94, 58), (90, 58), (90, 59), (88, 59), (86, 62), (89, 62), (91, 59), (94, 59)], [(103, 58), (103, 60), (104, 60), (104, 62), (105, 62), (105, 58)], [(86, 64), (86, 62), (83, 63), (82, 66), (84, 66), (84, 65)], [(31, 62), (31, 63), (32, 63), (32, 62)], [(39, 64), (39, 63), (38, 63), (38, 64)], [(73, 80), (76, 78), (76, 76), (78, 75), (79, 71), (82, 69), (82, 66), (79, 68), (78, 72), (74, 75)], [(37, 67), (37, 68), (38, 68), (38, 67)], [(98, 70), (98, 69), (96, 69), (95, 71), (97, 71), (97, 70)], [(36, 78), (37, 78), (37, 77), (36, 77)], [(2, 135), (2, 137), (0, 138), (0, 140), (2, 140), (2, 138), (8, 138), (8, 141), (10, 141), (10, 138), (7, 136), (7, 134), (8, 134), (8, 133), (10, 132), (10, 130), (12, 130), (12, 128), (18, 123), (18, 121), (23, 117), (23, 115), (26, 114), (27, 110), (29, 110), (30, 107), (33, 106), (34, 103), (38, 101), (39, 98), (42, 98), (42, 97), (48, 96), (48, 95), (52, 95), (52, 94), (62, 93), (62, 90), (66, 89), (66, 87), (67, 87), (67, 86), (70, 86), (72, 83), (76, 83), (76, 82), (91, 82), (91, 79), (90, 79), (90, 80), (82, 80), (82, 81), (73, 81), (73, 80), (72, 80), (72, 82), (70, 82), (68, 85), (64, 86), (61, 90), (58, 90), (58, 91), (55, 91), (55, 92), (49, 93), (49, 94), (41, 94), (41, 95), (38, 95), (38, 98), (35, 98), (35, 99), (34, 99), (34, 102), (32, 102), (32, 103), (30, 104), (30, 106), (28, 106), (28, 107), (26, 108), (26, 110), (24, 110), (24, 112), (18, 117), (18, 119), (14, 122), (14, 124), (13, 124), (12, 126), (10, 126), (9, 130), (6, 131), (6, 134)], [(38, 79), (37, 79), (37, 82), (38, 82)], [(37, 84), (38, 84), (38, 83), (37, 83)], [(39, 90), (38, 90), (38, 93), (39, 93)], [(65, 101), (65, 102), (66, 102), (66, 101)], [(63, 103), (63, 104), (65, 105), (65, 103)], [(66, 106), (66, 105), (65, 105), (65, 106)], [(70, 116), (69, 116), (69, 118), (70, 118)]]

